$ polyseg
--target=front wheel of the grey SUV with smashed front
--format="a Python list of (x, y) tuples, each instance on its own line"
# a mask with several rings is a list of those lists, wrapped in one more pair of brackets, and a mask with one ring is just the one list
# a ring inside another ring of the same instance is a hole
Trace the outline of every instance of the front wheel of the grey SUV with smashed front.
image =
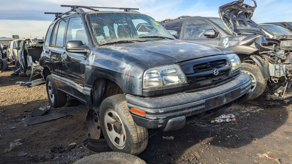
[(252, 80), (251, 95), (247, 100), (252, 100), (262, 95), (267, 87), (267, 81), (265, 81), (260, 68), (255, 64), (242, 63), (241, 71), (249, 74)]

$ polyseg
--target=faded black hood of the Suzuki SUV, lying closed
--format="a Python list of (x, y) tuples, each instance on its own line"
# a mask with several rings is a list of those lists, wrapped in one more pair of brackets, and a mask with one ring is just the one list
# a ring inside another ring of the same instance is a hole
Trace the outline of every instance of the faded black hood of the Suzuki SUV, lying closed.
[[(173, 64), (200, 57), (233, 53), (222, 47), (182, 40), (159, 40), (102, 46), (123, 60), (135, 60), (147, 67)], [(104, 50), (103, 50), (104, 51)], [(105, 51), (104, 51), (105, 52)]]

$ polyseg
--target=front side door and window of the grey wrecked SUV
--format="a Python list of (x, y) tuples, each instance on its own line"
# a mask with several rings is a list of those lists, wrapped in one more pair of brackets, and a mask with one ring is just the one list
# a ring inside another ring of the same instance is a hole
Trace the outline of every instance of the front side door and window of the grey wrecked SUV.
[(197, 19), (186, 21), (184, 32), (183, 34), (181, 34), (181, 39), (187, 41), (208, 43), (218, 46), (220, 36), (218, 35), (215, 38), (204, 36), (204, 32), (207, 29), (214, 29), (215, 31), (217, 31), (214, 27), (212, 27), (208, 22), (205, 22), (204, 20)]

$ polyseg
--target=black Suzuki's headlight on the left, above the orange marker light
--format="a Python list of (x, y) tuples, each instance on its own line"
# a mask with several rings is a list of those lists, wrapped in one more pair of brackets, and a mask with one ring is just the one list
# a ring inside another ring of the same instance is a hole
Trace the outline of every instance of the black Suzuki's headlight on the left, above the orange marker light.
[(163, 88), (183, 85), (185, 74), (176, 64), (147, 69), (143, 74), (143, 88)]

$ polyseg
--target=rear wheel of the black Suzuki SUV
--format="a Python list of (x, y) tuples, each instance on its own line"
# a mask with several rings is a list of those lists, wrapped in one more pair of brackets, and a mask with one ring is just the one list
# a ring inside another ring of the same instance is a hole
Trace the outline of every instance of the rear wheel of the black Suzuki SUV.
[(46, 78), (46, 90), (49, 102), (51, 103), (53, 108), (60, 108), (65, 106), (67, 96), (65, 93), (62, 93), (58, 90), (52, 78), (52, 75), (48, 75)]

